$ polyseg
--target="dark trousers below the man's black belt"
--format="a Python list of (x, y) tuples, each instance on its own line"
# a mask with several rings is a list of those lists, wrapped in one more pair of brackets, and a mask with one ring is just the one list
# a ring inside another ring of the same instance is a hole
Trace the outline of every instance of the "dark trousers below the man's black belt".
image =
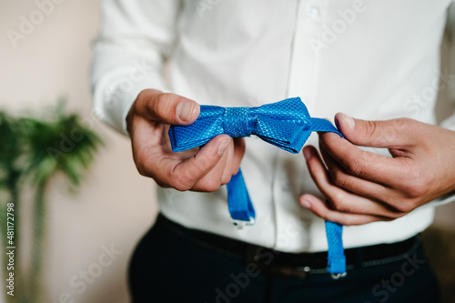
[(345, 278), (283, 278), (251, 270), (236, 258), (152, 227), (131, 260), (134, 303), (142, 302), (439, 302), (437, 280), (421, 246), (406, 258), (350, 269)]

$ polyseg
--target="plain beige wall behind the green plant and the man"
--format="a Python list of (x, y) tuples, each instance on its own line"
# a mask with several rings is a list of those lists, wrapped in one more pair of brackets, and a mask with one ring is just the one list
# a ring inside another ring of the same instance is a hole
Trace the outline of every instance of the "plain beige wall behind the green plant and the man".
[[(66, 96), (69, 107), (92, 119), (107, 142), (76, 195), (68, 196), (66, 183), (59, 178), (49, 192), (45, 283), (52, 302), (58, 302), (63, 292), (75, 302), (126, 302), (128, 259), (157, 211), (153, 183), (136, 173), (127, 139), (91, 114), (88, 72), (98, 5), (98, 0), (63, 1), (14, 48), (5, 32), (18, 30), (20, 16), (28, 18), (36, 9), (35, 1), (0, 0), (0, 108), (43, 110)], [(441, 108), (448, 112), (446, 106)], [(25, 208), (29, 205), (25, 203)], [(440, 207), (437, 223), (455, 229), (454, 215), (455, 204)], [(70, 287), (69, 280), (97, 263), (102, 247), (111, 244), (122, 255), (82, 294), (77, 293), (80, 288)]]

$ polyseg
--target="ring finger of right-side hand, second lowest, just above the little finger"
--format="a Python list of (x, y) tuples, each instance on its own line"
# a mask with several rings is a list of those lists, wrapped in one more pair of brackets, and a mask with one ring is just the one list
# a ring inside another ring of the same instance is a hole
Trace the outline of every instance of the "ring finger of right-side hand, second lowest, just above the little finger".
[(329, 178), (318, 152), (313, 146), (306, 146), (305, 157), (310, 176), (313, 178), (320, 192), (327, 197), (330, 206), (335, 210), (353, 214), (396, 217), (397, 215), (383, 204), (360, 197), (349, 191), (334, 186)]

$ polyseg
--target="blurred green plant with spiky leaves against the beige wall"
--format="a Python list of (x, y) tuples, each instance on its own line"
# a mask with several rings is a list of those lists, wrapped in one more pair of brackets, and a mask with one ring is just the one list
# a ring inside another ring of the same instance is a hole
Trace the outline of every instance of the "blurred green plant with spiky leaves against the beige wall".
[[(3, 114), (6, 121), (3, 126), (0, 116), (0, 148), (3, 155), (0, 157), (0, 168), (6, 172), (0, 186), (7, 188), (7, 196), (15, 201), (15, 217), (20, 217), (19, 187), (26, 184), (35, 189), (32, 268), (30, 275), (27, 275), (29, 279), (21, 279), (19, 282), (22, 291), (16, 302), (21, 303), (45, 301), (45, 289), (42, 285), (45, 194), (52, 177), (66, 177), (72, 187), (78, 187), (86, 170), (93, 163), (97, 149), (102, 145), (96, 132), (84, 125), (76, 114), (65, 113), (63, 103), (59, 103), (56, 110), (51, 112), (52, 114), (45, 118), (25, 116), (12, 119)], [(2, 127), (5, 128), (5, 133)], [(4, 153), (6, 148), (8, 152)], [(2, 221), (4, 218), (5, 202), (2, 203)], [(15, 230), (15, 241), (18, 231), (19, 229)], [(20, 269), (17, 268), (15, 272)], [(24, 289), (27, 289), (26, 294)]]

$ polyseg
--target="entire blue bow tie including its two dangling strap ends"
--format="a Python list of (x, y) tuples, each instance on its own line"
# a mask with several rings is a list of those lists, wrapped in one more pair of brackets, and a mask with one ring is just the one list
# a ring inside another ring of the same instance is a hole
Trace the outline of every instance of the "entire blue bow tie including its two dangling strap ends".
[[(262, 140), (297, 154), (311, 132), (339, 130), (325, 119), (313, 118), (299, 97), (258, 107), (200, 106), (197, 120), (189, 126), (171, 126), (169, 138), (174, 152), (203, 146), (218, 135), (256, 135)], [(227, 184), (227, 205), (235, 224), (253, 224), (256, 218), (241, 169)], [(342, 226), (326, 221), (329, 243), (328, 271), (334, 278), (346, 273)]]

